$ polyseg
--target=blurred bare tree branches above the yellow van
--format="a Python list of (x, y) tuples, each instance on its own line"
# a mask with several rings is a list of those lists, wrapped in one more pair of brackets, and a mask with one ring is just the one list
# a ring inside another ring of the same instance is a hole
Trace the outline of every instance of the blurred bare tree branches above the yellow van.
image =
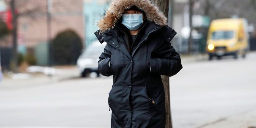
[[(256, 26), (255, 0), (197, 0), (195, 14), (208, 15), (210, 19), (230, 18), (233, 15), (248, 19)], [(202, 10), (203, 9), (203, 10)]]

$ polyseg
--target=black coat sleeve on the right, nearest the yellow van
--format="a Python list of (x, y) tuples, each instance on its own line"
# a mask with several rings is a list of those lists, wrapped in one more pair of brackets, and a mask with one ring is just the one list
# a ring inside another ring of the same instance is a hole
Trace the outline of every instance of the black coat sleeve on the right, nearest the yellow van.
[(183, 68), (180, 55), (175, 51), (171, 43), (161, 41), (153, 52), (158, 58), (150, 59), (151, 73), (173, 76)]

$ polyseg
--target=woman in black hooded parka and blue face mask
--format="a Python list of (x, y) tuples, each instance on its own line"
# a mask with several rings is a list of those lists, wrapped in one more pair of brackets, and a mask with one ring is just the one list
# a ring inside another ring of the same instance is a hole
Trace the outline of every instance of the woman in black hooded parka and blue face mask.
[(182, 69), (170, 44), (176, 32), (150, 0), (113, 0), (97, 23), (96, 37), (107, 43), (98, 61), (113, 75), (109, 92), (111, 128), (165, 128), (165, 91), (160, 75)]

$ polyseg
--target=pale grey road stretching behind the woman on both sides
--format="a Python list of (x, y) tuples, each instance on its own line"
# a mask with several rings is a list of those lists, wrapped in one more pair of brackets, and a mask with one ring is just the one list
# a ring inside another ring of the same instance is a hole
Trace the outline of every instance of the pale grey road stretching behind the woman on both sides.
[[(112, 77), (5, 79), (0, 127), (109, 128), (111, 85)], [(256, 53), (238, 60), (183, 61), (170, 85), (174, 128), (256, 126)]]

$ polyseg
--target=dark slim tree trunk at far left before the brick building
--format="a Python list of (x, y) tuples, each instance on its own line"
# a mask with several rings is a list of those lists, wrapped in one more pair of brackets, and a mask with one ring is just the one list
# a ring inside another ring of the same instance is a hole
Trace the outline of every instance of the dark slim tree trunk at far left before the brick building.
[(10, 1), (11, 12), (12, 12), (12, 59), (11, 59), (11, 71), (17, 73), (17, 14), (15, 7), (15, 0)]

